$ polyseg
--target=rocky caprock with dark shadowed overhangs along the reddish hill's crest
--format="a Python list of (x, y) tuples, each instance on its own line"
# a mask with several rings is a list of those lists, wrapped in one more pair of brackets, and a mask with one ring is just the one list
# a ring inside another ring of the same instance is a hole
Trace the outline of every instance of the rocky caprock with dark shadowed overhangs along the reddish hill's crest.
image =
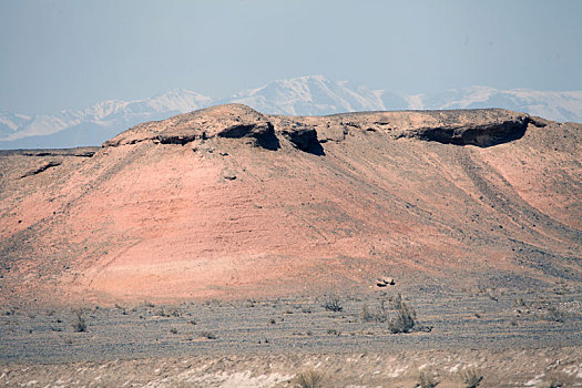
[(248, 106), (227, 104), (134, 126), (105, 142), (104, 147), (152, 141), (184, 145), (195, 140), (249, 139), (266, 150), (280, 149), (285, 139), (296, 149), (325, 155), (321, 143), (341, 142), (356, 133), (387, 134), (443, 144), (488, 147), (522, 137), (529, 124), (542, 119), (502, 109), (345, 113), (325, 118), (262, 114)]

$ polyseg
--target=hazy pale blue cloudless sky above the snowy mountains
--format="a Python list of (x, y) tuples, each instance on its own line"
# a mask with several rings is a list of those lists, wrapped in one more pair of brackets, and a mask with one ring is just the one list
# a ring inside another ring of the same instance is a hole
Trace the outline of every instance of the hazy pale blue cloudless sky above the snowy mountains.
[(578, 0), (0, 0), (0, 112), (323, 74), (372, 89), (582, 90)]

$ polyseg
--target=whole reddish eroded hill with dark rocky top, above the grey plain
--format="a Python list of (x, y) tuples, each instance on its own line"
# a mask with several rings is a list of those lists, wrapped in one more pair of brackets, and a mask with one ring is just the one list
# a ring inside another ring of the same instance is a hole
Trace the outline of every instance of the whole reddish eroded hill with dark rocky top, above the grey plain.
[(582, 125), (222, 105), (0, 156), (2, 299), (580, 282)]

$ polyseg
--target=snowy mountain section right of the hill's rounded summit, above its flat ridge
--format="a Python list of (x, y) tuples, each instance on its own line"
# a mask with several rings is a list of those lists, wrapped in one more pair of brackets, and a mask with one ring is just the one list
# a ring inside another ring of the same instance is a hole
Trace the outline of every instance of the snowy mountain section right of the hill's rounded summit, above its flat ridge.
[(239, 102), (261, 112), (323, 115), (340, 112), (421, 109), (504, 108), (557, 121), (582, 122), (582, 91), (541, 92), (472, 86), (433, 94), (406, 95), (371, 90), (323, 75), (278, 80), (219, 102)]

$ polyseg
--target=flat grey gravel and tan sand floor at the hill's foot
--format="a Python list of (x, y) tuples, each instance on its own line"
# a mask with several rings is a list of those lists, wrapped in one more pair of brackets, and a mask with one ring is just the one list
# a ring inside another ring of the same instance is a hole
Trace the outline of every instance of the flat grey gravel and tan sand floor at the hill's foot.
[[(374, 316), (400, 292), (417, 330)], [(85, 387), (289, 387), (315, 371), (323, 387), (582, 386), (581, 289), (466, 292), (372, 288), (270, 300), (19, 309), (0, 318), (0, 384)], [(325, 308), (339, 298), (340, 312)], [(86, 331), (76, 331), (81, 316)], [(555, 386), (555, 385), (554, 385)]]

